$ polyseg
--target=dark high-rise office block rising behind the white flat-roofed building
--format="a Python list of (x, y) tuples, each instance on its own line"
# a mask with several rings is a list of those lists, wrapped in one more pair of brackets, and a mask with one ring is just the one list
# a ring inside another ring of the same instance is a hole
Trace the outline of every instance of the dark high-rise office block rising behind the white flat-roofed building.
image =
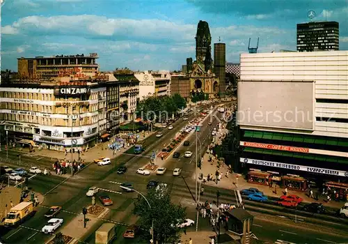
[(297, 51), (338, 50), (339, 33), (339, 24), (335, 21), (297, 24)]

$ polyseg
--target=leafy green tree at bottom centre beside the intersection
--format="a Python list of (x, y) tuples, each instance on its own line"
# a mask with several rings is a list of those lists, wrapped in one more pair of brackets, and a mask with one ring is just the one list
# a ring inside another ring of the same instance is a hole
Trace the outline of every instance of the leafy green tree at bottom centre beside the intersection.
[[(140, 217), (141, 227), (150, 230), (153, 220), (154, 241), (160, 244), (177, 243), (180, 238), (180, 229), (175, 226), (186, 218), (186, 208), (173, 204), (166, 190), (152, 189), (145, 197), (151, 208), (141, 195), (134, 202), (133, 213)], [(145, 238), (150, 240), (150, 231)]]

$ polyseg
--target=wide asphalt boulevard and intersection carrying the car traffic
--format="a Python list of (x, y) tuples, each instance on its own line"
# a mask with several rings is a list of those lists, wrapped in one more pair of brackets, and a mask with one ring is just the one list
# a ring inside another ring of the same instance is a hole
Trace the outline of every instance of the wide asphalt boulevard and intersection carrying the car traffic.
[[(70, 222), (72, 218), (81, 213), (81, 209), (91, 204), (90, 197), (86, 197), (86, 192), (91, 186), (100, 188), (100, 193), (107, 194), (113, 199), (111, 206), (111, 214), (108, 216), (109, 221), (120, 223), (118, 230), (118, 239), (115, 243), (129, 243), (122, 240), (122, 231), (125, 230), (127, 224), (134, 224), (136, 218), (132, 216), (132, 202), (136, 197), (135, 192), (122, 192), (120, 183), (133, 183), (134, 189), (139, 192), (146, 192), (146, 185), (150, 180), (157, 180), (168, 184), (171, 191), (173, 201), (187, 206), (187, 218), (196, 221), (196, 205), (194, 203), (195, 181), (193, 178), (196, 166), (196, 132), (191, 132), (189, 138), (189, 146), (179, 146), (175, 151), (180, 153), (180, 158), (173, 158), (172, 155), (157, 163), (166, 167), (166, 174), (156, 176), (155, 173), (150, 176), (136, 174), (136, 169), (143, 167), (150, 161), (152, 151), (161, 151), (164, 144), (171, 142), (175, 134), (181, 130), (184, 125), (189, 123), (196, 114), (189, 114), (188, 120), (179, 119), (173, 123), (173, 130), (165, 128), (161, 130), (163, 137), (157, 138), (152, 135), (145, 139), (145, 152), (141, 155), (133, 155), (132, 148), (126, 153), (115, 158), (111, 165), (97, 166), (90, 164), (79, 174), (70, 178), (62, 176), (35, 176), (29, 181), (29, 187), (35, 192), (40, 192), (45, 197), (43, 204), (37, 207), (35, 216), (22, 224), (21, 227), (3, 233), (2, 241), (4, 243), (45, 243), (50, 236), (42, 234), (40, 229), (45, 225), (47, 219), (44, 214), (49, 206), (62, 206), (63, 210), (58, 214), (59, 218), (63, 218), (65, 224)], [(208, 125), (209, 121), (212, 125)], [(207, 146), (211, 142), (213, 128), (218, 127), (219, 121), (215, 116), (206, 119), (198, 134), (198, 157), (201, 153), (205, 153)], [(185, 151), (192, 151), (191, 158), (184, 158)], [(6, 157), (6, 153), (1, 152), (1, 156)], [(10, 153), (10, 158), (15, 158), (15, 153)], [(31, 162), (35, 164), (42, 160), (47, 160), (45, 164), (51, 163), (51, 159), (45, 158), (37, 160), (32, 158)], [(90, 160), (93, 160), (92, 158)], [(53, 160), (52, 160), (53, 161)], [(29, 162), (29, 161), (28, 161)], [(43, 161), (42, 161), (43, 162)], [(125, 174), (116, 173), (119, 165), (127, 166), (128, 170)], [(182, 169), (182, 176), (173, 176), (173, 169)], [(214, 172), (212, 172), (214, 173)], [(111, 190), (113, 192), (103, 192), (103, 190)], [(216, 190), (218, 188), (205, 187), (205, 195), (200, 201), (215, 201)], [(235, 203), (235, 194), (231, 190), (219, 189), (221, 192), (220, 202)], [(274, 206), (272, 202), (268, 204), (255, 204), (246, 201), (246, 210), (251, 211), (255, 215), (253, 222), (253, 234), (260, 240), (274, 243), (277, 240), (290, 241), (292, 243), (347, 243), (347, 220), (343, 220), (331, 215), (308, 215), (302, 211), (287, 210)], [(296, 214), (299, 221), (292, 219)], [(105, 220), (106, 221), (106, 220)], [(81, 223), (83, 224), (83, 223)], [(123, 226), (124, 224), (125, 226)], [(210, 229), (207, 220), (200, 218), (198, 220), (198, 230)], [(193, 229), (192, 229), (193, 230)], [(84, 236), (85, 243), (94, 243), (94, 234), (90, 233)], [(136, 243), (140, 241), (137, 240)], [(131, 242), (132, 243), (132, 242)], [(146, 241), (145, 241), (146, 243)]]

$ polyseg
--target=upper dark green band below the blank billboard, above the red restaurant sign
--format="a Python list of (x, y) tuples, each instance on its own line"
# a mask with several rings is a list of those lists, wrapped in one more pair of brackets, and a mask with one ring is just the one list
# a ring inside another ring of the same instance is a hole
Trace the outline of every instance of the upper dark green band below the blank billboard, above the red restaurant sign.
[(244, 137), (259, 138), (259, 139), (272, 139), (286, 142), (303, 142), (309, 144), (324, 144), (331, 146), (347, 146), (348, 140), (344, 138), (333, 138), (333, 137), (319, 137), (312, 135), (297, 135), (280, 132), (267, 132), (267, 131), (255, 131), (245, 130)]

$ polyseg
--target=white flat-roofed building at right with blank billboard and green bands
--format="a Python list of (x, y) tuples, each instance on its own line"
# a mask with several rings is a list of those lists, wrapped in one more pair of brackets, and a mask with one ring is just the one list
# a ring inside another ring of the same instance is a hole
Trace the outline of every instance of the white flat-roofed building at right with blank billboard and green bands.
[(241, 54), (240, 67), (235, 167), (294, 190), (347, 181), (348, 51)]

